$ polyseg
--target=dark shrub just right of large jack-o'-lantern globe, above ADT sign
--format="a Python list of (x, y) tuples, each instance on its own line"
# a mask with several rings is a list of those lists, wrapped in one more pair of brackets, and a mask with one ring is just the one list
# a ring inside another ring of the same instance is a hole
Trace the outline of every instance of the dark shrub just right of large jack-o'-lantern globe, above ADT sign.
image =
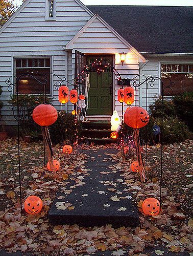
[[(149, 108), (153, 117), (161, 117), (161, 98), (156, 99)], [(176, 111), (174, 102), (172, 100), (163, 100), (163, 117), (175, 115)]]

